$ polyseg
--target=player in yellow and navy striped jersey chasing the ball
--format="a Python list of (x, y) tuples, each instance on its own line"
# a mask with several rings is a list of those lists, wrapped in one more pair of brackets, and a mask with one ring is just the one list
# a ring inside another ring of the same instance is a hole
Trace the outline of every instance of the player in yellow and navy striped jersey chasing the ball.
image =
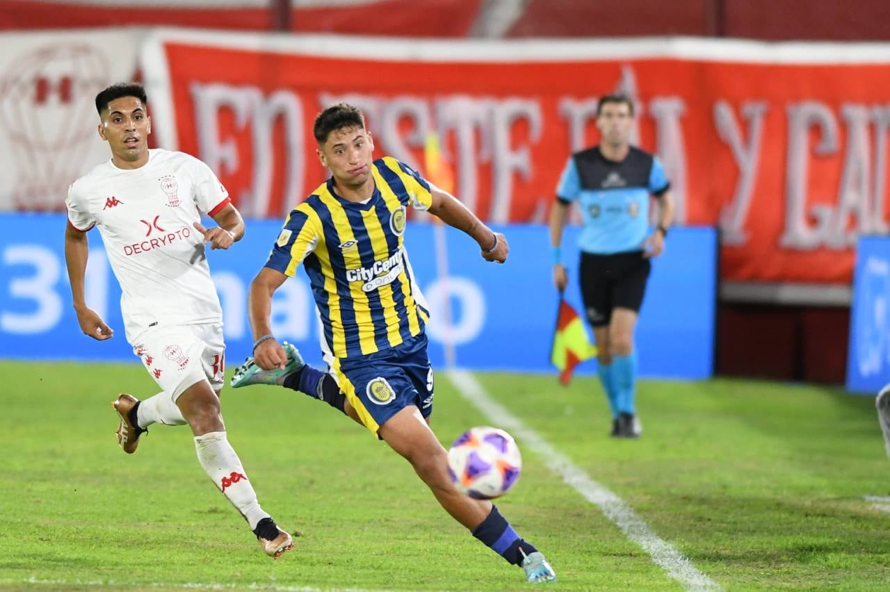
[[(409, 460), (436, 500), (530, 582), (554, 580), (543, 555), (523, 540), (489, 500), (473, 500), (451, 482), (448, 455), (429, 428), (433, 368), (426, 355), (429, 311), (403, 244), (408, 207), (438, 216), (503, 263), (506, 238), (453, 196), (391, 157), (373, 160), (371, 134), (352, 106), (315, 120), (321, 164), (332, 175), (290, 212), (265, 267), (250, 287), (254, 357), (232, 386), (279, 384), (320, 398)], [(303, 269), (322, 324), (330, 374), (304, 365), (271, 334), (272, 294)]]

